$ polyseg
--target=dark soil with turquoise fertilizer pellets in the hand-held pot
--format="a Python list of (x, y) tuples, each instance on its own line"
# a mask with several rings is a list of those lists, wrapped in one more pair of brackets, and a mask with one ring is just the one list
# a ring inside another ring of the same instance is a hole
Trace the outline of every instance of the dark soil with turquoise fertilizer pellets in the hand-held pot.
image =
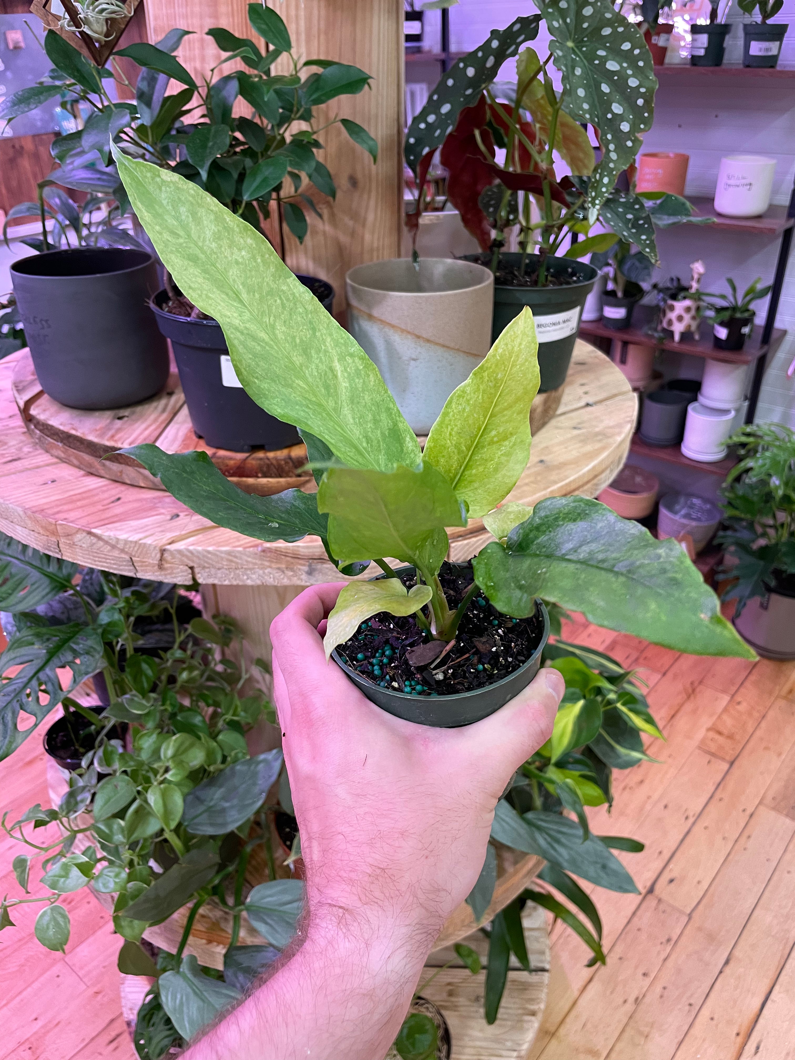
[[(453, 610), (472, 585), (472, 567), (444, 563), (439, 579)], [(413, 571), (401, 575), (401, 581), (411, 588)], [(410, 695), (454, 695), (508, 677), (527, 662), (543, 635), (541, 615), (509, 618), (479, 595), (466, 608), (448, 649), (425, 634), (413, 615), (399, 618), (382, 612), (337, 651), (352, 670), (382, 688)], [(417, 651), (423, 644), (425, 651)]]

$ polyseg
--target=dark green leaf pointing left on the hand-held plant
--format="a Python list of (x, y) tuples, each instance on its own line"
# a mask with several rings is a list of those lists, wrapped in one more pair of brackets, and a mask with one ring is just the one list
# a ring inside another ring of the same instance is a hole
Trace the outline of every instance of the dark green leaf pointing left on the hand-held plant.
[(145, 444), (120, 452), (143, 464), (177, 500), (228, 530), (259, 541), (300, 541), (308, 533), (325, 536), (328, 519), (318, 513), (312, 493), (285, 490), (271, 497), (244, 493), (199, 449), (163, 453)]

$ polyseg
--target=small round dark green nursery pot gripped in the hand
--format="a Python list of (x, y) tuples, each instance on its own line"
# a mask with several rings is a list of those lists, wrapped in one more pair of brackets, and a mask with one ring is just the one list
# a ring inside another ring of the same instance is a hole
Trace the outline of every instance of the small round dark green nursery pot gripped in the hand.
[[(454, 572), (471, 569), (467, 563), (445, 564), (444, 567)], [(413, 577), (414, 570), (413, 567), (401, 567), (396, 572), (401, 577), (406, 575)], [(379, 581), (385, 577), (385, 575), (379, 575), (373, 581)], [(332, 652), (332, 658), (344, 671), (346, 675), (351, 678), (354, 685), (364, 692), (368, 700), (377, 707), (381, 707), (382, 710), (386, 710), (387, 713), (394, 714), (395, 718), (402, 718), (407, 722), (414, 722), (418, 725), (432, 725), (438, 728), (460, 728), (463, 725), (472, 725), (474, 722), (479, 722), (483, 718), (493, 714), (496, 710), (499, 710), (509, 700), (518, 695), (523, 688), (526, 688), (538, 672), (542, 652), (549, 638), (549, 615), (541, 600), (536, 600), (535, 604), (536, 615), (543, 623), (543, 629), (537, 634), (538, 643), (533, 649), (530, 657), (514, 670), (513, 673), (510, 673), (501, 681), (482, 688), (473, 689), (469, 692), (448, 695), (424, 695), (410, 694), (394, 688), (382, 688), (379, 685), (363, 676), (363, 674), (358, 673), (346, 661), (339, 651), (339, 648), (344, 646), (336, 648)], [(473, 602), (470, 606), (475, 605)], [(495, 616), (498, 615), (498, 612), (491, 604), (487, 604), (487, 606), (489, 614), (493, 612)], [(385, 620), (393, 621), (392, 616), (385, 615), (384, 617)], [(527, 620), (519, 619), (519, 621), (528, 622), (532, 620), (532, 618)], [(500, 621), (510, 623), (513, 620), (505, 615), (500, 615), (497, 621), (498, 623)], [(496, 629), (499, 633), (499, 625)], [(389, 639), (391, 641), (391, 638)]]

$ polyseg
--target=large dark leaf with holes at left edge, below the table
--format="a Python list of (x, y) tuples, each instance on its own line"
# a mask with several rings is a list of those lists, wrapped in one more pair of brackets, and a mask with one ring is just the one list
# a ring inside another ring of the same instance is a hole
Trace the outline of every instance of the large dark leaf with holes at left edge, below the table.
[[(100, 669), (102, 651), (96, 631), (77, 622), (24, 630), (11, 639), (2, 656), (3, 671), (21, 669), (13, 677), (3, 677), (0, 685), (0, 761), (21, 746), (67, 694), (56, 670), (71, 670), (72, 687), (76, 687)], [(20, 731), (20, 710), (32, 714), (36, 725)]]

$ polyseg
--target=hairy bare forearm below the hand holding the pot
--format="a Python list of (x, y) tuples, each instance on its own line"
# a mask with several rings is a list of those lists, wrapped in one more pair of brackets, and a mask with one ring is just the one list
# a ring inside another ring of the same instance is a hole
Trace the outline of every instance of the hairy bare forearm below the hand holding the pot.
[(312, 917), (292, 959), (184, 1060), (381, 1060), (437, 932), (338, 909)]

